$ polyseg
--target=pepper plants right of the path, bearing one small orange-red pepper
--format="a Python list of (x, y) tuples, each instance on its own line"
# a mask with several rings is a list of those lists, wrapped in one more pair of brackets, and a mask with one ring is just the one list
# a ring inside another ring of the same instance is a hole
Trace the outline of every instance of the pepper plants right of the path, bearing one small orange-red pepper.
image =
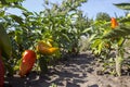
[[(116, 7), (130, 10), (130, 3), (119, 3)], [(96, 20), (90, 29), (90, 49), (103, 63), (102, 72), (121, 76), (123, 71), (129, 72), (129, 32), (130, 15)]]

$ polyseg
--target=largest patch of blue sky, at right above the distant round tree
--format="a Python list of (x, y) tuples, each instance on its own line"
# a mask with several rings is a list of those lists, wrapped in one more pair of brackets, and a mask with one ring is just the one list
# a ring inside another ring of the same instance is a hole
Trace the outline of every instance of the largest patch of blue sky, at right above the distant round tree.
[(113, 3), (120, 3), (120, 2), (130, 2), (130, 0), (88, 0), (87, 3), (83, 3), (80, 8), (84, 14), (89, 17), (95, 17), (96, 13), (105, 12), (108, 13), (110, 16), (125, 15), (125, 10), (120, 10), (113, 5)]

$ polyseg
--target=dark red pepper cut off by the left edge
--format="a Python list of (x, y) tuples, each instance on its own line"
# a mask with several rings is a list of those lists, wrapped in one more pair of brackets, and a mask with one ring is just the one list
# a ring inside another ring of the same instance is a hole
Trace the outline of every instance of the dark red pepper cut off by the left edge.
[(4, 65), (0, 52), (0, 87), (3, 87), (3, 83), (4, 83)]

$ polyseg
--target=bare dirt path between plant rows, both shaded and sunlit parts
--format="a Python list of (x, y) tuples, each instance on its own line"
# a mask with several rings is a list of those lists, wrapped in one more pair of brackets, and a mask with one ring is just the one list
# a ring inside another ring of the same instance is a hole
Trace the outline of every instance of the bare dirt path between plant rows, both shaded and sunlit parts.
[(82, 53), (60, 63), (47, 75), (30, 73), (25, 78), (8, 77), (6, 83), (13, 87), (130, 87), (130, 77), (114, 77), (110, 75), (96, 75), (99, 65), (90, 54)]

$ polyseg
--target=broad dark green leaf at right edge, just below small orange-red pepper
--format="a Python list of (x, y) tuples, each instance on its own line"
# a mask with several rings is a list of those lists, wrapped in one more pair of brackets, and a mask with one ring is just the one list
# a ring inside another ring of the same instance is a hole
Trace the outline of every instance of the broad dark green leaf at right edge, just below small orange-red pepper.
[(119, 26), (113, 30), (110, 30), (108, 34), (103, 36), (104, 38), (113, 38), (113, 37), (125, 37), (130, 35), (130, 25), (127, 26)]

